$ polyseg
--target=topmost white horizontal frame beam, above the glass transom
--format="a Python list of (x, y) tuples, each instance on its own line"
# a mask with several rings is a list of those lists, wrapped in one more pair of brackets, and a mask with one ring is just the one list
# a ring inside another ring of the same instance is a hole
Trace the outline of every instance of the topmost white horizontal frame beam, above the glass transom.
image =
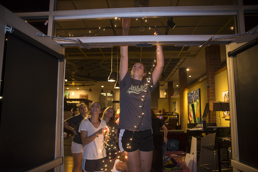
[(54, 20), (237, 15), (238, 5), (173, 6), (54, 11)]

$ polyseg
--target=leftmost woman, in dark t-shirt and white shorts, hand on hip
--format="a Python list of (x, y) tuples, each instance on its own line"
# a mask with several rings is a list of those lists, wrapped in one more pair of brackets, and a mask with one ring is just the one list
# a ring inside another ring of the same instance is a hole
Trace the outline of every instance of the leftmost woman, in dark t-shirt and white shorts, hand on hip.
[[(80, 133), (78, 132), (79, 126), (84, 119), (90, 118), (88, 115), (88, 107), (85, 103), (81, 103), (78, 106), (78, 115), (72, 116), (64, 121), (64, 127), (74, 133), (72, 137), (72, 159), (74, 161), (74, 166), (72, 167), (72, 172), (78, 172), (80, 169), (80, 165), (82, 164), (82, 152), (83, 152), (83, 144), (80, 137)], [(70, 126), (70, 124), (74, 125), (74, 128)]]

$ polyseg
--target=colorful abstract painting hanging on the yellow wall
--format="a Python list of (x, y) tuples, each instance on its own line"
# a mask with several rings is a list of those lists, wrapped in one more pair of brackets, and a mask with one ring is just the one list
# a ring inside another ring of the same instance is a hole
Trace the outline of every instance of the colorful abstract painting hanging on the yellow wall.
[[(187, 93), (188, 97), (188, 122), (195, 123), (194, 118), (196, 119), (196, 123), (200, 124), (201, 121), (201, 95), (200, 88)], [(192, 104), (194, 105), (195, 116), (193, 115)]]

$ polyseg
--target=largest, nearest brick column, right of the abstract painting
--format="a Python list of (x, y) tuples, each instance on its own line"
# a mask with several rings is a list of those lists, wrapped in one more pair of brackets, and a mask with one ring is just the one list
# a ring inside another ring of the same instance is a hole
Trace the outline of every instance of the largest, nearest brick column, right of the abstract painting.
[[(210, 84), (209, 88), (207, 88), (208, 102), (215, 102), (215, 83), (213, 73), (221, 69), (220, 45), (210, 45), (205, 47), (205, 60), (207, 83)], [(216, 122), (215, 111), (210, 111), (209, 122)]]

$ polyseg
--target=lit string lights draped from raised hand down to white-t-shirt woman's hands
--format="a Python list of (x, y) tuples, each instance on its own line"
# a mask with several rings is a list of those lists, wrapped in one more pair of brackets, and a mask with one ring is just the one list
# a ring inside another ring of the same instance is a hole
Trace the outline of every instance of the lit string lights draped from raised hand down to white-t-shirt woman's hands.
[[(153, 70), (153, 68), (154, 68), (154, 66), (155, 66), (155, 62), (156, 62), (156, 59), (157, 59), (157, 54), (159, 54), (159, 53), (157, 52), (157, 50), (159, 50), (159, 49), (156, 47), (155, 58), (154, 58), (154, 61), (153, 61), (153, 63), (152, 63), (151, 71), (149, 72), (150, 75), (152, 74), (152, 70)], [(125, 150), (125, 154), (124, 154), (123, 156), (118, 156), (118, 158), (123, 158), (123, 157), (126, 158), (125, 155), (126, 155), (126, 152), (128, 151), (128, 149), (131, 148), (131, 147), (130, 147), (130, 144), (131, 144), (132, 141), (133, 141), (134, 133), (139, 129), (139, 127), (140, 127), (141, 125), (143, 125), (143, 124), (142, 124), (142, 118), (144, 117), (144, 111), (143, 111), (144, 102), (145, 102), (146, 96), (147, 96), (147, 94), (148, 94), (148, 92), (149, 92), (149, 87), (153, 87), (151, 84), (152, 84), (152, 79), (150, 79), (150, 77), (149, 77), (149, 78), (147, 78), (147, 84), (146, 84), (146, 85), (147, 85), (147, 89), (144, 91), (146, 94), (143, 95), (142, 98), (141, 98), (141, 100), (142, 100), (142, 102), (143, 102), (143, 105), (142, 105), (142, 106), (139, 106), (139, 108), (142, 108), (142, 116), (138, 116), (138, 117), (141, 119), (141, 122), (140, 122), (140, 124), (139, 124), (138, 126), (134, 126), (135, 131), (133, 132), (132, 138), (130, 139), (131, 142), (127, 144), (127, 150)], [(106, 128), (107, 128), (107, 127), (108, 127), (108, 126), (106, 126)], [(106, 139), (107, 141), (105, 141), (105, 139)], [(114, 145), (110, 145), (109, 143), (115, 143), (115, 142), (114, 142), (114, 139), (115, 139), (115, 127), (112, 128), (108, 134), (104, 135), (104, 140), (102, 140), (102, 142), (103, 142), (103, 144), (102, 144), (102, 145), (103, 145), (103, 150), (101, 150), (101, 151), (102, 151), (102, 158), (104, 158), (104, 152), (103, 152), (103, 151), (104, 151), (104, 149), (106, 149), (107, 147), (109, 147), (108, 150), (110, 150), (110, 151), (109, 151), (109, 156), (111, 155), (111, 149), (113, 148)], [(114, 146), (114, 149), (115, 149), (115, 151), (117, 151), (115, 154), (118, 154), (118, 150), (117, 150), (116, 146)], [(107, 153), (108, 153), (108, 152), (106, 152), (106, 154), (107, 154)], [(120, 153), (120, 151), (119, 151), (119, 153)], [(108, 154), (107, 154), (107, 156), (108, 156)], [(109, 157), (109, 160), (110, 160), (110, 159), (111, 159), (111, 157)], [(112, 161), (112, 160), (110, 160), (110, 161)], [(105, 170), (107, 170), (107, 168), (109, 169), (109, 167), (108, 167), (108, 165), (107, 165), (107, 161), (103, 160), (103, 162), (104, 162)], [(104, 169), (101, 169), (101, 170), (104, 170)], [(109, 170), (110, 170), (110, 169), (109, 169)]]

